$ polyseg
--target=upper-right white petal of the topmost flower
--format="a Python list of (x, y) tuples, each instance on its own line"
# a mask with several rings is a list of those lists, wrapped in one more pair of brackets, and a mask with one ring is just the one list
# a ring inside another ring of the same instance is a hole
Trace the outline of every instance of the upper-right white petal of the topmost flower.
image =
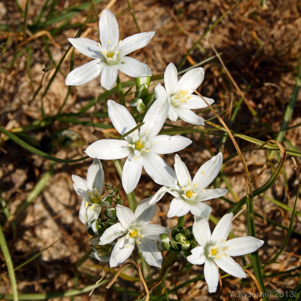
[(125, 56), (137, 49), (145, 47), (154, 36), (154, 34), (155, 31), (141, 32), (125, 38), (121, 41), (118, 55)]

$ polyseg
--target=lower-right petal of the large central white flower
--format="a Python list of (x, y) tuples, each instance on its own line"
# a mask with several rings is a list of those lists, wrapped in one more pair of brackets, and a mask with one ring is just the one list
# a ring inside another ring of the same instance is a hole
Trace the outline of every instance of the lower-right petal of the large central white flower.
[(173, 169), (157, 154), (143, 155), (143, 167), (146, 173), (160, 185), (175, 186), (177, 182)]

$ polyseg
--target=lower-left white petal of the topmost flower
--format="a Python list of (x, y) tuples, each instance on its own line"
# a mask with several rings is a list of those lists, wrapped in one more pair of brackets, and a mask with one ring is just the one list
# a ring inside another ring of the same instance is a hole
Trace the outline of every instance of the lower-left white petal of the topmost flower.
[(93, 60), (77, 67), (67, 75), (65, 85), (78, 86), (90, 82), (95, 77), (98, 77), (106, 65), (100, 60)]

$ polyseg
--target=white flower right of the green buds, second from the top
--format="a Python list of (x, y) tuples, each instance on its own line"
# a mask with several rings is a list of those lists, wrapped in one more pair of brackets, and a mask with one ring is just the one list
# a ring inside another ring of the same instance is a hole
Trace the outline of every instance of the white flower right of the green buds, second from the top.
[[(198, 95), (192, 94), (195, 89), (203, 82), (204, 69), (194, 68), (187, 71), (178, 81), (177, 68), (170, 63), (164, 73), (164, 85), (158, 84), (154, 88), (156, 98), (169, 94), (170, 108), (168, 118), (176, 121), (178, 116), (184, 121), (192, 124), (204, 125), (202, 117), (196, 115), (191, 109), (206, 108), (207, 104)], [(204, 97), (209, 104), (213, 99)]]

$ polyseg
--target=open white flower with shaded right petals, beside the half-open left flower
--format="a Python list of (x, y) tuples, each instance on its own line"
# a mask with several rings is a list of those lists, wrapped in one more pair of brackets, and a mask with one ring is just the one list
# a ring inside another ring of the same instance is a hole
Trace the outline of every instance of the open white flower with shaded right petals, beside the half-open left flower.
[(111, 253), (111, 267), (123, 263), (131, 255), (135, 244), (149, 265), (161, 267), (163, 259), (155, 240), (159, 234), (168, 233), (170, 230), (160, 225), (149, 225), (156, 210), (156, 204), (150, 206), (149, 199), (142, 200), (135, 213), (127, 207), (116, 206), (120, 223), (107, 228), (99, 242), (99, 245), (107, 245), (120, 237)]

